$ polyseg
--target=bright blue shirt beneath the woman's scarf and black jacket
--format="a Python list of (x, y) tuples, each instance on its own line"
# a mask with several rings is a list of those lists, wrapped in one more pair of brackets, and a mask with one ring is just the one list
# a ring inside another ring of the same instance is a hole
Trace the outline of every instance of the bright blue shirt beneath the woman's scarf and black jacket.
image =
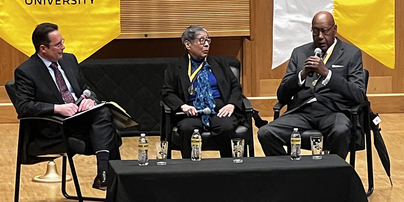
[[(196, 68), (198, 68), (199, 65), (204, 62), (204, 60), (205, 59), (195, 59), (195, 58), (191, 57), (191, 72), (193, 73), (196, 70)], [(218, 82), (216, 80), (215, 75), (213, 75), (212, 71), (210, 71), (210, 73), (208, 74), (208, 79), (209, 79), (209, 83), (211, 85), (213, 98), (221, 97), (222, 94), (220, 93)], [(192, 85), (195, 88), (196, 88), (196, 86), (198, 86), (197, 78), (192, 82)], [(195, 100), (195, 98), (196, 98), (196, 93), (194, 93), (193, 95), (189, 95), (188, 102), (193, 102)]]

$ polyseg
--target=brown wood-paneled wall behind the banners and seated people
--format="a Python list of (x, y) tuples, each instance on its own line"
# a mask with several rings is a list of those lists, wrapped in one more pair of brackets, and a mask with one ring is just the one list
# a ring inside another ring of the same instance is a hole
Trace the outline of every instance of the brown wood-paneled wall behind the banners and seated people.
[[(242, 62), (246, 96), (275, 96), (287, 62), (271, 70), (273, 1), (223, 0), (200, 4), (194, 0), (121, 0), (121, 7), (121, 36), (90, 58), (182, 56), (181, 31), (187, 25), (199, 24), (213, 37), (210, 55), (235, 56)], [(395, 69), (389, 69), (363, 53), (364, 67), (371, 76), (370, 94), (404, 93), (403, 13), (404, 3), (395, 1)], [(0, 39), (0, 49), (1, 86), (13, 78), (14, 69), (28, 57), (3, 39)], [(396, 96), (402, 100), (402, 94)]]

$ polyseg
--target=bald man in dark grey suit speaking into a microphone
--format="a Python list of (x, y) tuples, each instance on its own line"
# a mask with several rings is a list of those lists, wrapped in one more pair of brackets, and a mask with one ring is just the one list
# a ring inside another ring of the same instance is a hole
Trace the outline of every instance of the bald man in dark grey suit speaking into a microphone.
[[(319, 12), (312, 21), (314, 42), (293, 50), (277, 91), (279, 102), (289, 103), (293, 96), (293, 103), (258, 131), (266, 156), (287, 155), (283, 145), (298, 128), (320, 130), (330, 153), (346, 158), (351, 122), (344, 112), (365, 100), (365, 82), (360, 49), (335, 37), (336, 32), (333, 16)], [(313, 56), (316, 47), (320, 57)]]

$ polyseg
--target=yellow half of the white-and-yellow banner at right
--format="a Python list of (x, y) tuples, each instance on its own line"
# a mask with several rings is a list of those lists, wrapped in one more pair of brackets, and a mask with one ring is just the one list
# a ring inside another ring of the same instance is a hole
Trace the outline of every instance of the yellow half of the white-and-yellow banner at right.
[(394, 7), (394, 0), (334, 0), (338, 34), (394, 69)]

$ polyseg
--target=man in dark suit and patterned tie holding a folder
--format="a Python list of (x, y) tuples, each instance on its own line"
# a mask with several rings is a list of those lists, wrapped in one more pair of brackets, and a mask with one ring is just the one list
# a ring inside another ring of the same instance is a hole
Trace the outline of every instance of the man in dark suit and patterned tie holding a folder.
[[(32, 42), (36, 53), (14, 72), (19, 118), (45, 115), (69, 117), (98, 103), (92, 92), (90, 97), (75, 105), (77, 98), (89, 87), (85, 84), (76, 57), (63, 53), (64, 38), (57, 25), (38, 25), (32, 33)], [(49, 122), (35, 125), (39, 134), (34, 137), (34, 143), (38, 148), (46, 150), (61, 145), (63, 139), (59, 125)], [(120, 159), (118, 137), (108, 108), (75, 117), (68, 122), (66, 134), (91, 142), (97, 158), (97, 176), (92, 187), (105, 190), (108, 160)]]

